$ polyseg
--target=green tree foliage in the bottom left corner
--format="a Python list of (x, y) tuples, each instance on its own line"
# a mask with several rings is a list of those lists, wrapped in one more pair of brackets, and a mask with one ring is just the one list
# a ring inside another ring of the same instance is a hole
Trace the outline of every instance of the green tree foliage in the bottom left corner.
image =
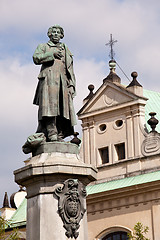
[(9, 226), (9, 221), (0, 216), (0, 240), (19, 240), (18, 229), (13, 229), (9, 236), (5, 235), (5, 229)]

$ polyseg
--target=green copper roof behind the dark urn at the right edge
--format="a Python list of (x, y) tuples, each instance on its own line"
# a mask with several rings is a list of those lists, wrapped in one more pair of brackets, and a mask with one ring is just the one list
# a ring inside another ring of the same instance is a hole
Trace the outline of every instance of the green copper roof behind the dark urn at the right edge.
[[(160, 93), (154, 92), (150, 90), (143, 90), (144, 97), (148, 98), (146, 107), (145, 107), (145, 119), (146, 119), (146, 125), (147, 129), (150, 131), (151, 128), (147, 124), (148, 119), (150, 118), (149, 113), (150, 112), (156, 112), (157, 115), (155, 116), (160, 121)], [(156, 127), (157, 132), (160, 132), (160, 123)]]

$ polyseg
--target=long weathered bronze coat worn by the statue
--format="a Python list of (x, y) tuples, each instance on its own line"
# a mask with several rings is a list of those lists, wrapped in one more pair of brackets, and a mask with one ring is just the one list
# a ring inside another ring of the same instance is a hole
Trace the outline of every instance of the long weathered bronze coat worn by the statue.
[[(61, 60), (53, 56), (55, 47), (62, 49), (64, 56)], [(71, 52), (65, 44), (55, 45), (49, 41), (38, 45), (33, 61), (35, 64), (42, 64), (33, 101), (33, 104), (39, 105), (38, 119), (60, 116), (59, 124), (68, 128), (63, 130), (64, 135), (73, 134), (72, 127), (76, 124), (76, 117), (72, 99), (75, 96), (75, 76)], [(70, 94), (70, 87), (73, 87), (73, 95)]]

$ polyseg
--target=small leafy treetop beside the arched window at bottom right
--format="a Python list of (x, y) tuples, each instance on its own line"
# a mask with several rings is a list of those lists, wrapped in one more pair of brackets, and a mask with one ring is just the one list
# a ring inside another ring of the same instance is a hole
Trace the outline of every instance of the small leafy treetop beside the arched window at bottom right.
[(143, 226), (142, 223), (138, 222), (134, 226), (134, 232), (133, 234), (128, 234), (129, 240), (149, 240), (149, 238), (146, 238), (145, 235), (149, 231), (149, 228), (146, 226)]

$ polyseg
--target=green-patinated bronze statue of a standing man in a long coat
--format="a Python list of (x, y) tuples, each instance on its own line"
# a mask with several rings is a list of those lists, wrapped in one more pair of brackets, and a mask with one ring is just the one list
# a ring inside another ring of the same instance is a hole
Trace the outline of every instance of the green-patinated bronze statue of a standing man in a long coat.
[(42, 64), (33, 104), (39, 106), (37, 133), (44, 133), (47, 141), (52, 142), (63, 141), (74, 132), (75, 75), (72, 54), (60, 42), (63, 28), (50, 27), (48, 37), (48, 43), (39, 44), (33, 55), (34, 63)]

